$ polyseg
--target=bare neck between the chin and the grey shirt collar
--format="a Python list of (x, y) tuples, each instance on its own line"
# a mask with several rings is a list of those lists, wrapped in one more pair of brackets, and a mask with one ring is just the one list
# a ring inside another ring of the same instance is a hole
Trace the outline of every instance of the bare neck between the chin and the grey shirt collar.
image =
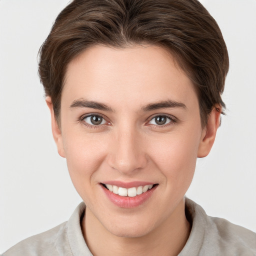
[(83, 235), (94, 256), (174, 256), (182, 250), (190, 233), (190, 224), (185, 217), (184, 199), (170, 217), (140, 237), (119, 237), (110, 233), (87, 208), (85, 216), (82, 220)]

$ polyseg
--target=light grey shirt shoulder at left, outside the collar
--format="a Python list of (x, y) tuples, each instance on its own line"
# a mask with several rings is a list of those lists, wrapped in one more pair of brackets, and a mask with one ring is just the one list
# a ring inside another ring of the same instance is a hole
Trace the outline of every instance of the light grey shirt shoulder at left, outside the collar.
[(61, 255), (58, 244), (63, 246), (64, 255), (68, 254), (68, 240), (66, 235), (67, 222), (64, 222), (56, 227), (53, 227), (45, 232), (28, 237), (2, 254), (2, 256), (34, 256), (34, 255)]

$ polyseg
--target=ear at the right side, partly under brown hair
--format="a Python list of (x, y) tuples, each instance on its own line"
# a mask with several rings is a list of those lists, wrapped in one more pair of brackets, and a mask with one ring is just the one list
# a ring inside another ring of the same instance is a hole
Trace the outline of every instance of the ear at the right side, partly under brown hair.
[(215, 105), (207, 120), (207, 124), (202, 130), (200, 143), (197, 151), (197, 157), (205, 157), (209, 152), (215, 140), (217, 128), (220, 125), (221, 106)]

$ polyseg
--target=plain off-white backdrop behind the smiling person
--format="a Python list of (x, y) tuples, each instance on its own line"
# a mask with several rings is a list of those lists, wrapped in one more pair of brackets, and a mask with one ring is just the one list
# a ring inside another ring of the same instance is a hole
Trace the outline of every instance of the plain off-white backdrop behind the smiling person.
[[(37, 52), (67, 0), (0, 0), (0, 252), (67, 220), (81, 201), (57, 154)], [(187, 196), (256, 231), (256, 0), (201, 0), (230, 56), (226, 116)]]

